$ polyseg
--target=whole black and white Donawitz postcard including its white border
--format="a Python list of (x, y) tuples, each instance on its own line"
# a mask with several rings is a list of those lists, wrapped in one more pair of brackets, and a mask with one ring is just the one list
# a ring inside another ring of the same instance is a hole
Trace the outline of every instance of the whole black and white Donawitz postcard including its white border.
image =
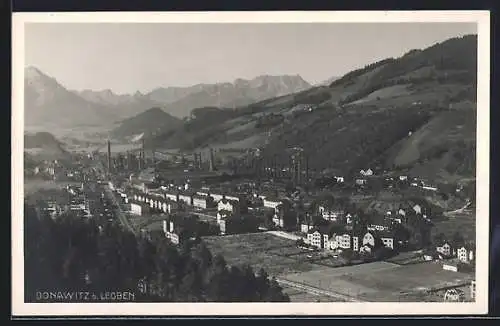
[(489, 24), (14, 14), (13, 313), (486, 312)]

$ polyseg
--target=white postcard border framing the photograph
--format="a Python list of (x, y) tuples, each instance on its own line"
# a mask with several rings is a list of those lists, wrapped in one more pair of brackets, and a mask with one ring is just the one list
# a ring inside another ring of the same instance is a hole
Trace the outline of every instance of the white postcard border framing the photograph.
[[(477, 222), (474, 303), (24, 303), (23, 148), (24, 24), (38, 23), (417, 23), (478, 24)], [(79, 12), (14, 13), (12, 19), (12, 314), (14, 316), (176, 315), (467, 315), (488, 310), (489, 11)]]

